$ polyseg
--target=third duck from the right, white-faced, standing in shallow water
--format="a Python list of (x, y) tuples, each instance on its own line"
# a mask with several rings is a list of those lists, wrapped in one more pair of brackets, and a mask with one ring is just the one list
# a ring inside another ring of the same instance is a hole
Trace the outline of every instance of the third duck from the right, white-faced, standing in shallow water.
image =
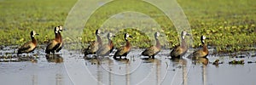
[(155, 32), (154, 33), (154, 39), (155, 39), (155, 45), (151, 46), (149, 48), (146, 48), (142, 55), (143, 56), (148, 56), (149, 58), (152, 57), (154, 59), (154, 55), (158, 54), (161, 50), (161, 45), (160, 42), (158, 40), (158, 37), (160, 37), (160, 33), (159, 32)]

